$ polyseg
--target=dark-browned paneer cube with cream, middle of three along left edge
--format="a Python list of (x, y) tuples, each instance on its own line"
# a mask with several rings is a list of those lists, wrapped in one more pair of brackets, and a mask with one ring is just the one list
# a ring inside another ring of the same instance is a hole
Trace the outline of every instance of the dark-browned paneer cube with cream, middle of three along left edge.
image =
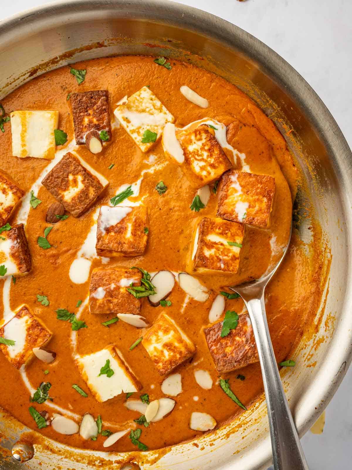
[(1, 233), (0, 265), (5, 266), (6, 276), (27, 274), (31, 271), (31, 253), (23, 224), (14, 225), (10, 230)]

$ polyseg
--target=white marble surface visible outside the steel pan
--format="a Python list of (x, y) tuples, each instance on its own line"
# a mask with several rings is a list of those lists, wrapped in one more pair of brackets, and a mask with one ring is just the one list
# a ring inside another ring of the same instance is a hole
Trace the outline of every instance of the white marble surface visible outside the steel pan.
[[(1, 2), (0, 19), (48, 3)], [(352, 146), (351, 0), (181, 0), (250, 32), (314, 88)], [(352, 468), (352, 368), (329, 404), (321, 435), (302, 439), (311, 470)], [(295, 469), (291, 469), (295, 470)]]

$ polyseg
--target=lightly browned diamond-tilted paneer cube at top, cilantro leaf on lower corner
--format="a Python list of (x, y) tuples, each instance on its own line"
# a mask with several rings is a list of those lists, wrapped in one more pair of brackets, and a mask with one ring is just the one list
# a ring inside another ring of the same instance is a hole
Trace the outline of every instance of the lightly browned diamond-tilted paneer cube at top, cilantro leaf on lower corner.
[(114, 114), (142, 152), (161, 138), (166, 123), (175, 120), (147, 86), (132, 94), (126, 104), (117, 106)]

